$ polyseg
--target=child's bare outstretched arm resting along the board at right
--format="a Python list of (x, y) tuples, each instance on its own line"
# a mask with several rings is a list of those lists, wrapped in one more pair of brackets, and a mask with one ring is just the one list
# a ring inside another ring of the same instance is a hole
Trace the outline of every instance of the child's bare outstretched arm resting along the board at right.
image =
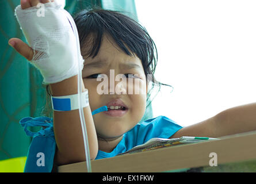
[(230, 108), (205, 121), (184, 127), (170, 138), (181, 136), (221, 137), (256, 131), (256, 103)]

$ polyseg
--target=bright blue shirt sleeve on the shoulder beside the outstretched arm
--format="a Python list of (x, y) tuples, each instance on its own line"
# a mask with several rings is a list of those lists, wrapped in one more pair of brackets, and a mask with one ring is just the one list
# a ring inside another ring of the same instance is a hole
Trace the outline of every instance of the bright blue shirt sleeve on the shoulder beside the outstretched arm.
[(182, 127), (166, 116), (158, 116), (137, 124), (128, 132), (130, 147), (144, 144), (154, 137), (169, 139)]

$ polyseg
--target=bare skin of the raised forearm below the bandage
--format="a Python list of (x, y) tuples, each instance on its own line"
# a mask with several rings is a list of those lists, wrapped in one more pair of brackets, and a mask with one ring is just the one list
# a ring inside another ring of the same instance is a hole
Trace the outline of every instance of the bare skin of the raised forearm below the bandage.
[[(62, 82), (51, 84), (52, 95), (63, 96), (76, 94), (77, 81), (78, 76), (76, 75)], [(82, 91), (85, 91), (83, 82)], [(90, 157), (91, 159), (95, 159), (98, 153), (98, 140), (90, 106), (83, 108), (83, 113), (85, 114)], [(83, 146), (83, 135), (78, 109), (66, 112), (54, 111), (54, 133), (58, 146), (55, 154), (56, 164), (63, 165), (85, 161), (85, 148)]]

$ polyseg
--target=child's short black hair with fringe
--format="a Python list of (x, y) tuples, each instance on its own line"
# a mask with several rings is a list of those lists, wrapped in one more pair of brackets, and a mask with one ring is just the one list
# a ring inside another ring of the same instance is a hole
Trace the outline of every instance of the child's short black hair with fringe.
[[(83, 46), (90, 41), (89, 49), (83, 55), (87, 57), (95, 57), (101, 47), (101, 42), (104, 34), (110, 36), (116, 45), (127, 55), (136, 54), (142, 62), (146, 78), (151, 74), (150, 81), (152, 88), (147, 94), (147, 107), (151, 104), (151, 91), (154, 87), (161, 85), (170, 86), (156, 81), (154, 73), (158, 61), (158, 53), (156, 45), (146, 28), (140, 25), (137, 21), (120, 11), (104, 10), (99, 7), (93, 7), (79, 11), (74, 17), (77, 25), (81, 51)], [(131, 51), (131, 52), (130, 52)], [(148, 78), (147, 78), (148, 80)], [(49, 94), (47, 86), (47, 93)], [(170, 86), (172, 87), (172, 86)], [(157, 92), (157, 93), (158, 93)], [(156, 94), (157, 94), (156, 93)]]

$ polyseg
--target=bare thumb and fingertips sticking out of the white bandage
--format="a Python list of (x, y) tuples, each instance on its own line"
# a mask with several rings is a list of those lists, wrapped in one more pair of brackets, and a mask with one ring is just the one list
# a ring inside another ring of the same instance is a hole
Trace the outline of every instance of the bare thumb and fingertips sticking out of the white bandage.
[[(27, 9), (32, 6), (36, 6), (38, 3), (48, 3), (49, 0), (21, 0), (21, 8)], [(54, 0), (52, 0), (54, 2)], [(34, 51), (28, 44), (24, 43), (21, 39), (12, 38), (9, 40), (9, 44), (16, 49), (20, 55), (24, 56), (27, 60), (32, 60)], [(37, 53), (37, 51), (36, 51)]]

